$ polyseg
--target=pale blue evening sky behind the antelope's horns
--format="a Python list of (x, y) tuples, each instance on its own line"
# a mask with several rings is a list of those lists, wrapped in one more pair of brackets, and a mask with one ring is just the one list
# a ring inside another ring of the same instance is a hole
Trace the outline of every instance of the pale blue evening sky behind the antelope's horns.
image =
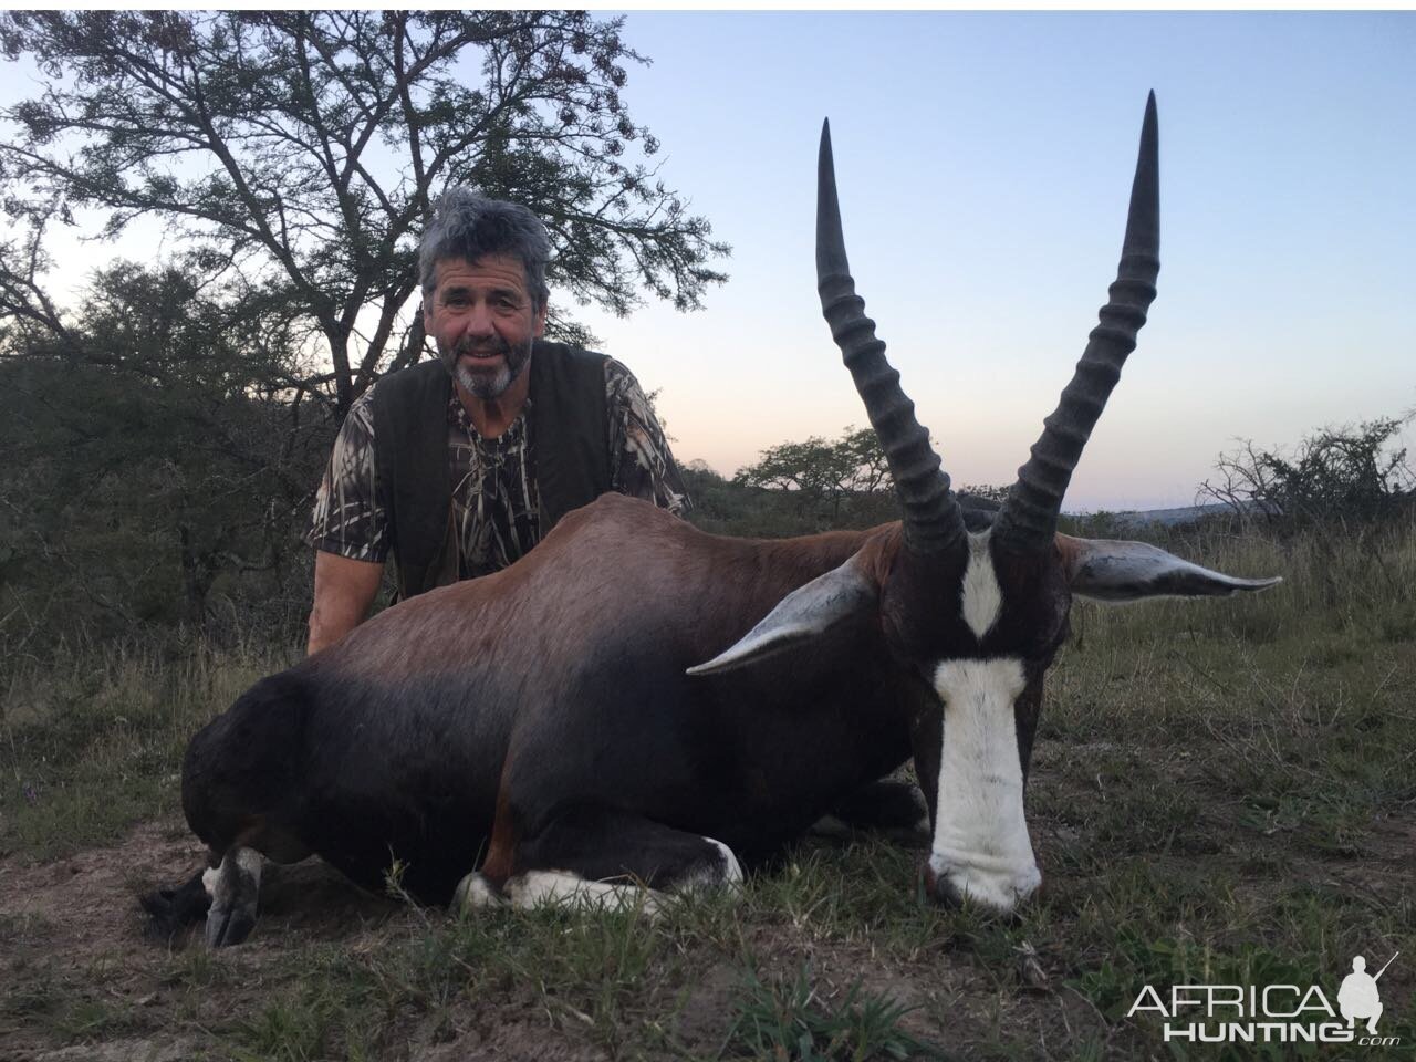
[(1191, 504), (1238, 439), (1416, 409), (1416, 13), (630, 11), (622, 35), (653, 59), (624, 101), (731, 280), (697, 313), (575, 316), (660, 392), (681, 463), (865, 423), (816, 295), (828, 116), (902, 385), (956, 486), (1011, 483), (1116, 275), (1150, 89), (1160, 293), (1066, 508)]

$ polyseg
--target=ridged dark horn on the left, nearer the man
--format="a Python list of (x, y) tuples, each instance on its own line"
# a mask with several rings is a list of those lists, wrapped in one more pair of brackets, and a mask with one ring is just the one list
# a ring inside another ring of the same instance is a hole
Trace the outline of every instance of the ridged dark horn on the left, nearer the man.
[(929, 432), (915, 418), (915, 404), (899, 387), (899, 372), (885, 360), (885, 344), (875, 338), (875, 321), (865, 316), (865, 300), (845, 261), (841, 205), (835, 197), (835, 164), (831, 157), (831, 123), (821, 125), (816, 193), (816, 289), (831, 338), (851, 370), (865, 415), (875, 429), (895, 491), (903, 508), (905, 544), (915, 554), (961, 548), (966, 531), (959, 503), (949, 491), (949, 476), (929, 445)]

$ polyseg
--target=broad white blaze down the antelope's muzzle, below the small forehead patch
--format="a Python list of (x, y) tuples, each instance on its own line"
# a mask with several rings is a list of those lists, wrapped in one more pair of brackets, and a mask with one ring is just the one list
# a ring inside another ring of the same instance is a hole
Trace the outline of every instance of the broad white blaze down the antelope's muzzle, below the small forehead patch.
[(935, 671), (944, 726), (929, 865), (959, 893), (997, 910), (1011, 910), (1042, 882), (1022, 813), (1012, 714), (1025, 685), (1017, 658), (946, 660)]

